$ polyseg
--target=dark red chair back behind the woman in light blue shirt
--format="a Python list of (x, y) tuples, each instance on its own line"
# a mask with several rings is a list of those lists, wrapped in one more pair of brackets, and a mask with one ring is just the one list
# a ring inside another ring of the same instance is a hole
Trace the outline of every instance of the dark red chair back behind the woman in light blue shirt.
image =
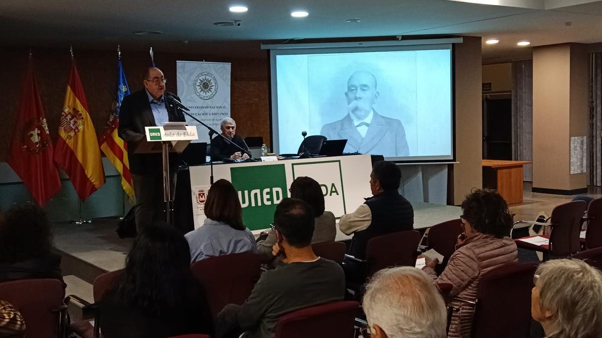
[(190, 266), (205, 288), (211, 314), (216, 316), (226, 304), (243, 304), (261, 274), (261, 256), (237, 253), (199, 260)]

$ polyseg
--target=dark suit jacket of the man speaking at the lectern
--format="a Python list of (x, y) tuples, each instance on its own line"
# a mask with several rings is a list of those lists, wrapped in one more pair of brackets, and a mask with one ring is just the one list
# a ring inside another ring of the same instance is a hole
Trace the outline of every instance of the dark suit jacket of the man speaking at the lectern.
[[(165, 92), (179, 100), (173, 93)], [(165, 103), (167, 115), (170, 122), (185, 122), (184, 114), (170, 103)], [(128, 143), (129, 171), (135, 175), (160, 174), (163, 170), (163, 158), (161, 153), (135, 154), (138, 143), (146, 139), (144, 127), (157, 126), (152, 114), (151, 103), (146, 94), (146, 89), (139, 90), (123, 98), (119, 110), (119, 137)], [(175, 153), (169, 154), (170, 170), (176, 170), (179, 156)]]

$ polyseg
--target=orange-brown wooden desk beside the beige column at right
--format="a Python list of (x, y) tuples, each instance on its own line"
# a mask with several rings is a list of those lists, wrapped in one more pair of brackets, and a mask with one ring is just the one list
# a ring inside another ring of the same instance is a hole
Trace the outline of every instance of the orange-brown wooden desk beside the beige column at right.
[(483, 159), (483, 188), (500, 192), (508, 204), (523, 203), (523, 165), (529, 161)]

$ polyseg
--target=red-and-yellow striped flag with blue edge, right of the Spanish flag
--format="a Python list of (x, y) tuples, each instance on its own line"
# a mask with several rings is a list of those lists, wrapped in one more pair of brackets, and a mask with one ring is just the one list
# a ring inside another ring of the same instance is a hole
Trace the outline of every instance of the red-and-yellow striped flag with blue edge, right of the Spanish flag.
[(113, 101), (113, 112), (109, 115), (107, 128), (102, 133), (98, 144), (101, 145), (102, 152), (107, 159), (117, 168), (121, 174), (121, 186), (129, 197), (134, 196), (132, 187), (132, 174), (129, 172), (128, 162), (128, 144), (117, 135), (119, 128), (119, 109), (123, 97), (129, 95), (128, 81), (125, 79), (123, 64), (121, 60), (117, 61), (117, 91)]

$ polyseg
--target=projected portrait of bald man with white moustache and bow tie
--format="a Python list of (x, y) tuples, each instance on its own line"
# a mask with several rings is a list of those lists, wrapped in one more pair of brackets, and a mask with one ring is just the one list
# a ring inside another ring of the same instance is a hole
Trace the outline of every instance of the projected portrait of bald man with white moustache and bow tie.
[(327, 123), (320, 131), (328, 140), (347, 139), (346, 152), (409, 156), (408, 141), (403, 124), (396, 118), (380, 115), (374, 110), (379, 92), (376, 77), (364, 70), (353, 73), (347, 80), (347, 115)]

